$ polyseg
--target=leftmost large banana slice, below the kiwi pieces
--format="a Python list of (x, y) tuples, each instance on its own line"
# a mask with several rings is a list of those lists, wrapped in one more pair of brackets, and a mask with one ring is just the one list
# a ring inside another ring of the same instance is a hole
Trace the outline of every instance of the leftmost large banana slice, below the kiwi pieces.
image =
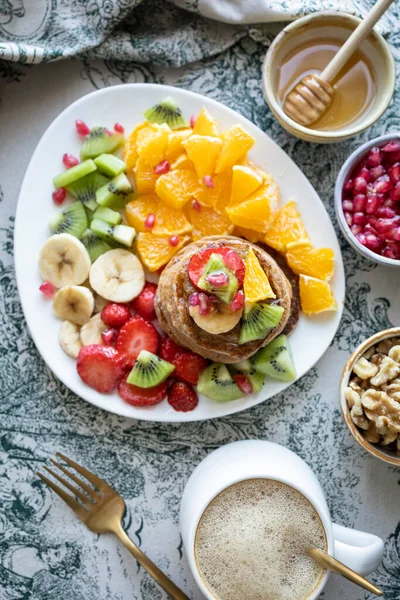
[(55, 287), (83, 283), (89, 269), (88, 251), (78, 238), (69, 233), (52, 235), (40, 251), (40, 275)]

